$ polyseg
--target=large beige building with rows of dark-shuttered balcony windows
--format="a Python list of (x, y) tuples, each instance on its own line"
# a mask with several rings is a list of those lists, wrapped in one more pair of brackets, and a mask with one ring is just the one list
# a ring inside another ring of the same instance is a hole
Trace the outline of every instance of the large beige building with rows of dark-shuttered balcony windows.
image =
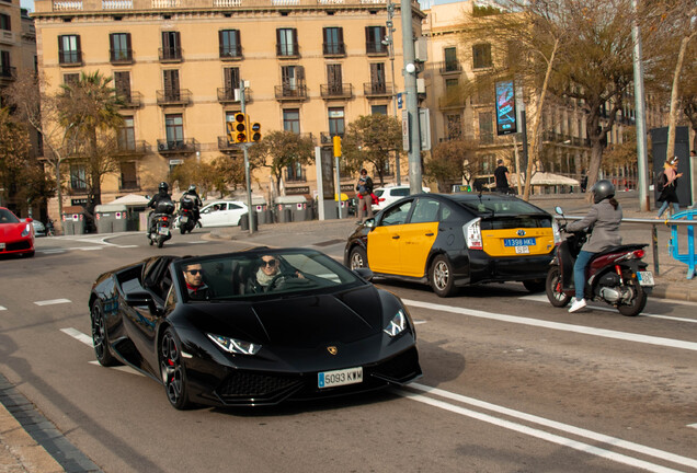
[[(311, 134), (329, 146), (361, 115), (392, 115), (392, 96), (403, 90), (402, 28), (397, 4), (392, 76), (387, 7), (384, 0), (37, 0), (33, 18), (39, 69), (52, 88), (99, 70), (126, 97), (119, 142), (133, 159), (105, 178), (108, 203), (151, 193), (184, 160), (239, 157), (226, 122), (240, 112), (240, 80), (249, 81), (245, 108), (262, 134)], [(412, 18), (419, 36), (416, 2)], [(81, 203), (83, 177), (72, 163), (65, 205)], [(253, 191), (265, 195), (268, 176), (253, 177)], [(287, 194), (316, 191), (313, 166), (289, 166), (284, 181)]]

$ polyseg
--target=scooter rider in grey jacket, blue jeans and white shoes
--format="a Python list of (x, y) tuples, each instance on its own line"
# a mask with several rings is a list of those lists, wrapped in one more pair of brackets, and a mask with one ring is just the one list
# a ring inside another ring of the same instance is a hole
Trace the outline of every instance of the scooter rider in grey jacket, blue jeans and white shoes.
[(622, 243), (622, 238), (619, 234), (622, 209), (615, 199), (615, 186), (607, 180), (601, 180), (595, 183), (591, 192), (594, 204), (589, 214), (583, 219), (567, 224), (567, 231), (570, 232), (589, 229), (587, 240), (581, 247), (573, 265), (575, 298), (569, 312), (575, 312), (586, 305), (584, 289), (585, 267), (589, 262), (596, 253)]

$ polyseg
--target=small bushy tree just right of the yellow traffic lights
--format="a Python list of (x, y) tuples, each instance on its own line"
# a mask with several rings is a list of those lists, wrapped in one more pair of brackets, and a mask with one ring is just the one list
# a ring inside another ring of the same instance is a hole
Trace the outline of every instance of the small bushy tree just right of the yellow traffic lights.
[(250, 147), (250, 168), (268, 168), (276, 188), (281, 188), (283, 170), (296, 163), (312, 164), (313, 149), (315, 142), (308, 136), (285, 130), (271, 131), (260, 142)]

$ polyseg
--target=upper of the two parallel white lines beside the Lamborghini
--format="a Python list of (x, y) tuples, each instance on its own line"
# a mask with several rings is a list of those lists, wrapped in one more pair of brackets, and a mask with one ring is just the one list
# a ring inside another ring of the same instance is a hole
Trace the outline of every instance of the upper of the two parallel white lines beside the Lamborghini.
[(525, 422), (529, 422), (533, 424), (538, 424), (545, 427), (550, 427), (557, 430), (561, 430), (565, 434), (573, 434), (575, 436), (579, 437), (583, 437), (586, 438), (589, 440), (593, 440), (593, 441), (599, 441), (599, 442), (604, 442), (604, 443), (608, 443), (612, 445), (614, 447), (619, 447), (622, 448), (625, 450), (631, 450), (635, 451), (637, 453), (641, 453), (641, 454), (645, 454), (645, 455), (650, 455), (650, 457), (654, 457), (658, 459), (662, 459), (662, 460), (666, 460), (673, 463), (677, 463), (677, 464), (682, 464), (685, 466), (690, 466), (690, 468), (696, 468), (697, 469), (697, 460), (692, 459), (692, 458), (687, 458), (687, 457), (682, 457), (675, 453), (671, 453), (671, 452), (666, 452), (664, 450), (659, 450), (659, 449), (654, 449), (652, 447), (647, 447), (647, 446), (642, 446), (640, 443), (635, 443), (628, 440), (622, 440), (620, 438), (617, 437), (612, 437), (605, 434), (598, 434), (595, 432), (593, 430), (587, 430), (581, 427), (575, 427), (569, 424), (563, 424), (557, 420), (551, 420), (551, 419), (547, 419), (545, 417), (539, 417), (533, 414), (526, 414), (524, 412), (521, 411), (515, 411), (509, 407), (503, 407), (496, 404), (491, 404), (488, 403), (485, 401), (480, 401), (478, 399), (475, 397), (469, 397), (469, 396), (465, 396), (461, 394), (456, 394), (449, 391), (445, 391), (438, 388), (433, 388), (430, 385), (425, 385), (425, 384), (420, 384), (420, 383), (411, 383), (407, 387), (407, 389), (413, 389), (413, 390), (418, 390), (424, 393), (429, 393), (429, 394), (433, 394), (433, 395), (437, 395), (441, 397), (445, 397), (447, 400), (450, 401), (456, 401), (462, 404), (468, 404), (471, 406), (476, 406), (479, 408), (484, 408), (487, 411), (493, 411), (498, 414), (503, 414), (506, 415), (509, 417), (514, 417), (521, 420), (525, 420)]

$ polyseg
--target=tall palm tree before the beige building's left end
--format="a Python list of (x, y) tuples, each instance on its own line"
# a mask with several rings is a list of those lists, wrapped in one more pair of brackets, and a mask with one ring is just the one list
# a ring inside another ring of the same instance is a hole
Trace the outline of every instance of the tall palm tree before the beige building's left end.
[(104, 175), (119, 170), (116, 130), (124, 123), (118, 113), (123, 104), (111, 82), (99, 71), (82, 72), (58, 94), (58, 119), (73, 143), (71, 159), (85, 165), (90, 214), (102, 203)]

